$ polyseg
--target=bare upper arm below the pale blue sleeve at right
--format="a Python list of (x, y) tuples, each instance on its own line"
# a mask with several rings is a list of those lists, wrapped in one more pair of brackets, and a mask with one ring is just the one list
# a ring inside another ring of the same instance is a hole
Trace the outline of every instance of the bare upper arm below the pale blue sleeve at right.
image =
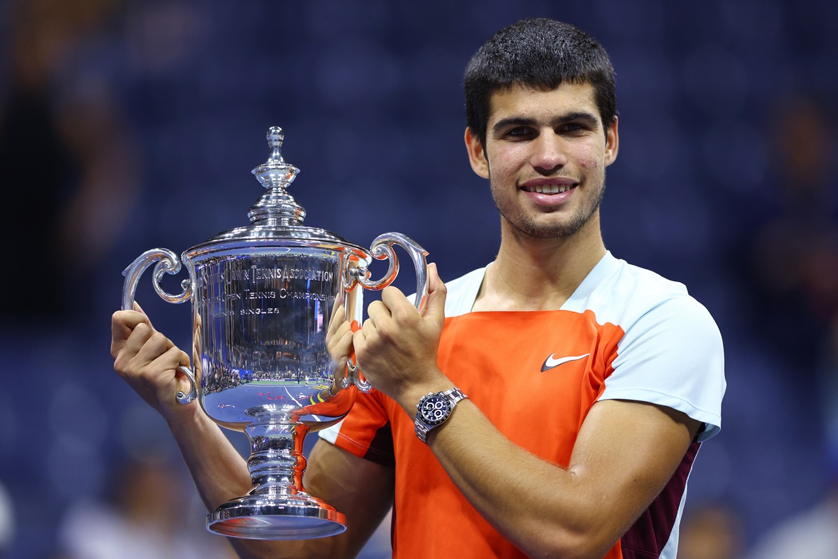
[[(672, 479), (700, 422), (639, 401), (606, 400), (588, 412), (569, 470), (608, 508), (607, 539), (617, 541)], [(613, 545), (613, 544), (612, 544)]]

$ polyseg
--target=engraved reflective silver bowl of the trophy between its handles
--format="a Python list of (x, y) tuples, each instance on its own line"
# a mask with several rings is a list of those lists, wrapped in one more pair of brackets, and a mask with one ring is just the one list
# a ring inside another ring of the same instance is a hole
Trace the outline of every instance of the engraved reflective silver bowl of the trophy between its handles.
[(219, 256), (195, 270), (194, 343), (212, 417), (244, 424), (261, 408), (292, 412), (332, 385), (326, 331), (339, 278), (338, 255), (305, 249)]

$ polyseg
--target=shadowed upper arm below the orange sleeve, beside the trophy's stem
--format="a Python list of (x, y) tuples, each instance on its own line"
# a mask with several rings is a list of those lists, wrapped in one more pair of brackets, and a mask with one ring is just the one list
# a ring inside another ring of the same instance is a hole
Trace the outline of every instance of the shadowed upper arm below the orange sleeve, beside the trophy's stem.
[(393, 505), (395, 471), (323, 439), (314, 445), (306, 490), (346, 515), (347, 530), (334, 536), (335, 551), (356, 556)]

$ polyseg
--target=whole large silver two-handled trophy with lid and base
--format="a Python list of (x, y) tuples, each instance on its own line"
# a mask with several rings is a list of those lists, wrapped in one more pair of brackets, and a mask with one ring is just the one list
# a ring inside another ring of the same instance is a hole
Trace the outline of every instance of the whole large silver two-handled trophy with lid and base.
[[(207, 516), (207, 529), (224, 536), (260, 540), (334, 536), (346, 529), (342, 513), (303, 489), (303, 438), (346, 415), (358, 391), (370, 391), (350, 359), (334, 364), (326, 347), (331, 320), (362, 322), (362, 293), (396, 278), (394, 246), (403, 247), (416, 268), (416, 308), (427, 299), (427, 252), (400, 233), (385, 233), (370, 250), (333, 233), (303, 225), (305, 210), (287, 193), (299, 169), (282, 158), (282, 129), (267, 135), (271, 155), (253, 169), (265, 194), (251, 206), (251, 225), (225, 231), (193, 246), (178, 260), (153, 249), (127, 267), (122, 308), (132, 309), (137, 282), (154, 267), (154, 289), (169, 303), (192, 300), (193, 369), (189, 394), (222, 427), (250, 438), (247, 461), (255, 489)], [(370, 281), (367, 267), (389, 260)], [(189, 279), (183, 291), (163, 289), (163, 274), (181, 262)], [(343, 304), (345, 315), (333, 316)]]

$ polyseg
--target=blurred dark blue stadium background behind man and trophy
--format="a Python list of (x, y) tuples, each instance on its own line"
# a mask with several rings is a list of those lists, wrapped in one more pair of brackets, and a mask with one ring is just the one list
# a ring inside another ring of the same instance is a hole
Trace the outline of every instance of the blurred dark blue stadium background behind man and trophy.
[[(617, 71), (608, 248), (685, 282), (725, 339), (682, 556), (744, 556), (830, 499), (838, 3), (7, 0), (0, 556), (230, 556), (163, 421), (112, 370), (122, 269), (246, 225), (274, 125), (307, 225), (363, 246), (401, 231), (443, 279), (483, 266), (499, 219), (463, 149), (463, 68), (531, 16), (586, 29)], [(189, 347), (186, 306), (150, 275), (137, 298)], [(701, 556), (714, 539), (729, 545)], [(386, 549), (384, 533), (365, 556)]]

